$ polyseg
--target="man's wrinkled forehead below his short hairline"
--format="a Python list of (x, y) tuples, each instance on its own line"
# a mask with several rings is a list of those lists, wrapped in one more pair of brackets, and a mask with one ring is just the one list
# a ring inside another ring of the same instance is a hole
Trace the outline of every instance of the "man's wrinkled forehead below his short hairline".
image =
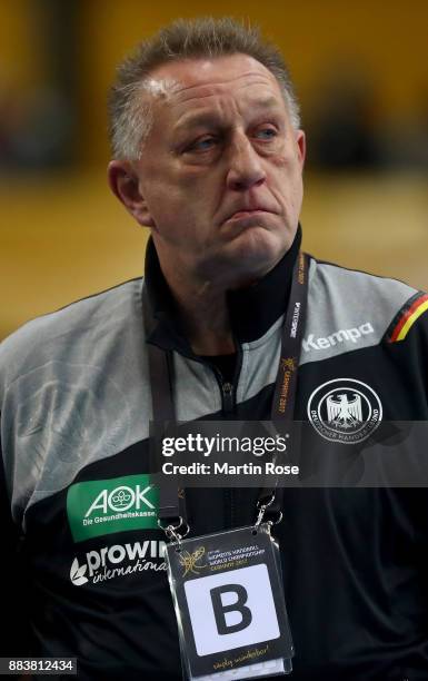
[(253, 95), (275, 97), (282, 101), (280, 86), (275, 76), (248, 55), (216, 58), (183, 59), (161, 65), (148, 82), (149, 92), (159, 101), (178, 107), (209, 105), (216, 96)]

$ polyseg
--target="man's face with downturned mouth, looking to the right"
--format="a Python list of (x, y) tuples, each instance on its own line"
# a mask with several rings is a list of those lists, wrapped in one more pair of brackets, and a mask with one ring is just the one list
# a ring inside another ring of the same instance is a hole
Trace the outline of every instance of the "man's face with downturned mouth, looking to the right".
[(233, 55), (163, 65), (151, 88), (135, 172), (162, 267), (230, 287), (262, 276), (290, 247), (302, 199), (305, 136), (277, 80)]

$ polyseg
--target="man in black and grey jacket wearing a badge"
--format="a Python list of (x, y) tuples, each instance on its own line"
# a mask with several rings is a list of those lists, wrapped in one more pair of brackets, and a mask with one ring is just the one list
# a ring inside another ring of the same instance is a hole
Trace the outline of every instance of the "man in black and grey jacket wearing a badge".
[[(31, 654), (77, 657), (83, 680), (179, 679), (148, 348), (169, 358), (179, 421), (270, 418), (305, 135), (278, 51), (210, 19), (171, 24), (121, 67), (111, 131), (110, 187), (151, 233), (146, 277), (3, 344), (3, 534), (8, 556), (22, 537)], [(310, 259), (295, 407), (309, 455), (354, 456), (382, 420), (428, 418), (427, 307), (405, 284)], [(256, 501), (187, 490), (191, 534), (250, 525)], [(293, 678), (427, 679), (425, 490), (290, 487), (281, 510)]]

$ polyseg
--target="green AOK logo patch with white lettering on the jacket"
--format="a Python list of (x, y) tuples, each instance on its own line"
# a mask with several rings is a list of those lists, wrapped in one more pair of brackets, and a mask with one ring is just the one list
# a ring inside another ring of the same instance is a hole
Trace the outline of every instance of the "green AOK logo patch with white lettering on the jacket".
[(149, 475), (128, 475), (72, 485), (67, 514), (76, 542), (127, 530), (157, 529), (159, 492)]

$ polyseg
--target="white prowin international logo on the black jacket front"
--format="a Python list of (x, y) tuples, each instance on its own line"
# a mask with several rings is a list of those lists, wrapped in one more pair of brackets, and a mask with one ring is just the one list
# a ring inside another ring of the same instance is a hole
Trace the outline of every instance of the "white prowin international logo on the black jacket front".
[(98, 584), (147, 570), (159, 572), (167, 569), (163, 551), (165, 542), (153, 540), (133, 544), (115, 544), (103, 546), (99, 551), (88, 551), (82, 563), (79, 563), (78, 557), (72, 561), (70, 580), (74, 586), (82, 586), (88, 582)]

